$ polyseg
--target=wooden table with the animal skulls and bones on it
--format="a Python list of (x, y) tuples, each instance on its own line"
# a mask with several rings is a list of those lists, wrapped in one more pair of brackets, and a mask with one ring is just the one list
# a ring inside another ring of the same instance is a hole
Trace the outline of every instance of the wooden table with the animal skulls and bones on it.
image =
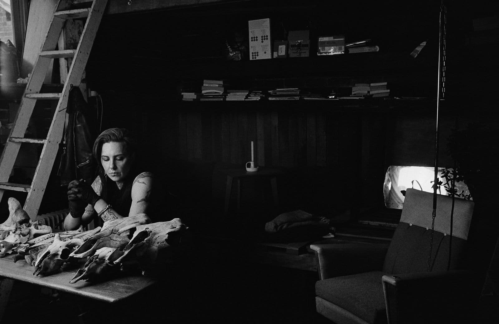
[(70, 284), (77, 268), (62, 271), (50, 276), (33, 276), (34, 267), (26, 261), (13, 262), (10, 255), (0, 259), (0, 321), (5, 310), (12, 280), (19, 280), (46, 288), (56, 289), (93, 300), (116, 303), (130, 297), (156, 281), (143, 276), (123, 276), (100, 283), (78, 281)]

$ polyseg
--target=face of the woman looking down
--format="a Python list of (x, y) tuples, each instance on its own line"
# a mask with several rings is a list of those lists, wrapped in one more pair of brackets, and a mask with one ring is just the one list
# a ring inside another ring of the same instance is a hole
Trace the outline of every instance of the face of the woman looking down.
[(100, 162), (107, 176), (113, 181), (123, 181), (132, 167), (132, 157), (123, 142), (104, 143)]

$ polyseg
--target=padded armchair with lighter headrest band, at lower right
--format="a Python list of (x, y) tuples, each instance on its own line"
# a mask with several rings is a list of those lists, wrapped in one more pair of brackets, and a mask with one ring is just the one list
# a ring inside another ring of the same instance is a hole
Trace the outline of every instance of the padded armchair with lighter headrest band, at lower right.
[[(470, 305), (470, 272), (460, 269), (474, 202), (437, 197), (430, 261), (433, 194), (407, 189), (387, 245), (311, 245), (319, 265), (316, 310), (336, 324), (456, 323)], [(348, 264), (348, 265), (347, 265)], [(354, 265), (352, 265), (354, 264)], [(449, 269), (448, 269), (448, 265)]]

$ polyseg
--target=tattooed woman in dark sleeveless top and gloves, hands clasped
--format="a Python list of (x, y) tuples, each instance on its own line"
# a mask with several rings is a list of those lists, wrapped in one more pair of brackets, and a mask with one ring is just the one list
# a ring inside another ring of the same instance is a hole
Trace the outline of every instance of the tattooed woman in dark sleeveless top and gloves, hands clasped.
[(68, 185), (70, 212), (64, 219), (66, 230), (78, 229), (94, 219), (111, 220), (151, 209), (153, 176), (139, 172), (135, 159), (135, 143), (129, 132), (111, 128), (102, 132), (93, 145), (98, 175), (91, 185), (73, 180)]

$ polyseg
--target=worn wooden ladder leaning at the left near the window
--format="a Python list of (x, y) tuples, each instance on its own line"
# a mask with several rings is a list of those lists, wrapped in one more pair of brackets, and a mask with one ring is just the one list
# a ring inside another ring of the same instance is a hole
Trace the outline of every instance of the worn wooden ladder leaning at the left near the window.
[[(5, 190), (27, 192), (24, 210), (32, 220), (35, 219), (38, 208), (40, 207), (50, 171), (59, 149), (59, 143), (62, 139), (69, 89), (73, 85), (78, 86), (80, 84), (90, 54), (90, 49), (92, 48), (97, 29), (99, 28), (104, 13), (104, 8), (107, 4), (107, 0), (93, 0), (87, 1), (92, 2), (91, 6), (88, 8), (67, 10), (71, 2), (72, 1), (69, 0), (59, 0), (55, 6), (45, 40), (42, 43), (38, 58), (34, 63), (10, 135), (0, 158), (0, 200)], [(55, 50), (64, 22), (69, 19), (84, 17), (86, 17), (86, 22), (77, 48)], [(61, 76), (61, 83), (64, 84), (62, 92), (40, 93), (47, 69), (52, 62), (51, 60), (54, 58), (72, 58), (72, 63), (67, 72), (65, 81)], [(31, 139), (24, 137), (37, 100), (58, 101), (46, 139)], [(43, 145), (31, 184), (8, 182), (22, 143)]]

